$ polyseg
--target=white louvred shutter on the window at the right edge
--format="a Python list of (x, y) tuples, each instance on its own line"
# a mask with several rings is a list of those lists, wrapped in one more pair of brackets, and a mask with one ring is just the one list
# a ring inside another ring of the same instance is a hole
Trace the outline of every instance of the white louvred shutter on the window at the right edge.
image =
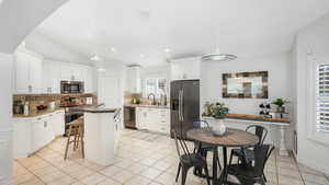
[(329, 134), (329, 65), (319, 65), (317, 73), (317, 131)]

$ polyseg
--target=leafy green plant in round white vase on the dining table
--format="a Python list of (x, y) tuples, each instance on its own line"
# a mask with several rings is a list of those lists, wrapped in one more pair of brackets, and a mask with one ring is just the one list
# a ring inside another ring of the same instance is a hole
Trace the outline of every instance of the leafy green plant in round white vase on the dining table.
[(207, 117), (213, 117), (215, 123), (211, 125), (212, 130), (216, 135), (224, 135), (226, 132), (226, 127), (224, 124), (224, 119), (226, 118), (228, 114), (228, 107), (224, 103), (215, 103), (215, 104), (206, 104), (205, 105), (206, 112), (203, 114)]

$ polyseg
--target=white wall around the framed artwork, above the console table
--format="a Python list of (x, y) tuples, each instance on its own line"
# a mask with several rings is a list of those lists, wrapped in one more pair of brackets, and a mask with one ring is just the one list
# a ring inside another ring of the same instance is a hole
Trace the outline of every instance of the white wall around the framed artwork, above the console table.
[[(258, 115), (259, 105), (276, 97), (291, 99), (290, 62), (291, 54), (282, 53), (259, 58), (236, 59), (222, 62), (202, 62), (201, 103), (223, 102), (230, 113)], [(222, 74), (231, 72), (269, 71), (269, 100), (223, 99)]]

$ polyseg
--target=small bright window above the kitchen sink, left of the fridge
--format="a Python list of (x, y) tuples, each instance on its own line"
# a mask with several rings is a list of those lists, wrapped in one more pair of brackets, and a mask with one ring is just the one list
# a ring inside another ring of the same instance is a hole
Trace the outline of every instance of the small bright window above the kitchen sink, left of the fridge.
[(168, 95), (167, 79), (148, 78), (144, 80), (144, 97), (147, 97), (150, 93), (155, 94), (157, 99), (164, 94)]

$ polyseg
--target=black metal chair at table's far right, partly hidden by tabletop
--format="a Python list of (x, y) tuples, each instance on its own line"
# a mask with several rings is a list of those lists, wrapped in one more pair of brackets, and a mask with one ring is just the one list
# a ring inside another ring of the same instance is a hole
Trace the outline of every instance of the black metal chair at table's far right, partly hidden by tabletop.
[[(250, 125), (247, 127), (246, 131), (254, 129), (254, 135), (259, 138), (259, 144), (262, 144), (268, 136), (268, 129), (260, 125)], [(232, 157), (238, 157), (238, 162), (243, 161), (246, 163), (252, 162), (253, 159), (253, 150), (250, 148), (240, 148), (232, 149), (230, 152), (229, 164), (231, 163)]]

